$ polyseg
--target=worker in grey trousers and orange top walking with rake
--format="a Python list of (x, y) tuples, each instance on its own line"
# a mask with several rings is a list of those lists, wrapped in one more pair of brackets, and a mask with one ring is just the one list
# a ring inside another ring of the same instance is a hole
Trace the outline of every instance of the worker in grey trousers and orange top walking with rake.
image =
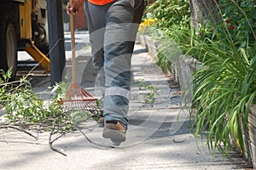
[(118, 144), (126, 139), (131, 90), (131, 55), (143, 17), (143, 0), (73, 0), (67, 14), (84, 4), (94, 67), (103, 72), (102, 137)]

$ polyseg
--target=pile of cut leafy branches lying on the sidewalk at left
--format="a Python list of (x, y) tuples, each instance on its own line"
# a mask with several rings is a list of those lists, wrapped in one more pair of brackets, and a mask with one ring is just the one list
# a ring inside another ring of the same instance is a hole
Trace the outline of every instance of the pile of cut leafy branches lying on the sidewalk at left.
[[(66, 156), (58, 148), (52, 146), (56, 139), (61, 138), (65, 133), (77, 129), (77, 123), (86, 121), (90, 116), (98, 119), (100, 115), (92, 115), (90, 111), (67, 110), (62, 107), (61, 99), (66, 98), (66, 90), (69, 83), (58, 82), (51, 89), (52, 98), (48, 103), (40, 99), (32, 91), (32, 86), (27, 77), (19, 81), (9, 82), (11, 71), (0, 73), (0, 109), (6, 111), (6, 122), (0, 124), (0, 128), (13, 128), (23, 133), (49, 131), (49, 147), (51, 150)], [(100, 105), (100, 102), (97, 102)], [(54, 134), (60, 134), (52, 139)]]

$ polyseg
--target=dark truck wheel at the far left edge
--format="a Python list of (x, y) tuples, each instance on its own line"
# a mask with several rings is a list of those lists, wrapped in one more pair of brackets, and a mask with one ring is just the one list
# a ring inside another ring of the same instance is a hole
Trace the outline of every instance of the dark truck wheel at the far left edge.
[(2, 21), (0, 26), (0, 70), (12, 71), (11, 80), (15, 79), (17, 71), (17, 38), (15, 27), (9, 21)]

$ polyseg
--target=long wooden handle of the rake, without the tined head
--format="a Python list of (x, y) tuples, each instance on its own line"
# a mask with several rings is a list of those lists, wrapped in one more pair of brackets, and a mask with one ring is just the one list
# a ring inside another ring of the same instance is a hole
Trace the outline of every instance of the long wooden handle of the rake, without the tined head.
[[(73, 0), (69, 0), (70, 6), (73, 4)], [(71, 34), (71, 49), (72, 49), (72, 77), (73, 83), (77, 82), (77, 71), (76, 71), (76, 50), (75, 50), (75, 38), (73, 28), (73, 12), (69, 14), (70, 20), (70, 34)]]

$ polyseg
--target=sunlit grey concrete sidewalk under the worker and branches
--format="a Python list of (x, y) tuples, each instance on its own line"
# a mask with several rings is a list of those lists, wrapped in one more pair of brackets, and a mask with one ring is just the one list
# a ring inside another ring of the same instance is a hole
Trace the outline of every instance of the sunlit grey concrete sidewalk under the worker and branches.
[[(86, 37), (88, 34), (85, 32), (80, 36)], [(79, 34), (76, 37), (79, 47), (88, 47), (88, 39), (80, 38)], [(90, 48), (80, 49), (81, 53), (77, 55), (78, 79), (86, 91), (98, 96), (93, 81), (95, 72), (90, 65), (84, 67), (90, 62)], [(67, 51), (67, 55), (70, 55), (70, 51)], [(68, 68), (67, 73), (70, 72)], [(134, 78), (129, 111), (131, 122), (124, 143), (113, 148), (108, 139), (102, 139), (102, 128), (89, 122), (80, 130), (96, 144), (91, 144), (79, 131), (67, 133), (54, 143), (55, 147), (63, 149), (63, 153), (67, 155), (62, 156), (49, 149), (49, 133), (39, 133), (39, 139), (35, 141), (25, 133), (0, 130), (0, 169), (248, 169), (236, 153), (230, 153), (230, 161), (219, 153), (212, 156), (204, 139), (203, 142), (199, 139), (197, 143), (189, 130), (188, 115), (184, 115), (179, 122), (176, 121), (180, 113), (177, 82), (166, 77), (139, 44), (136, 44), (132, 57), (132, 72)], [(140, 98), (143, 95), (138, 94), (148, 93), (138, 88), (144, 82), (157, 89), (159, 95), (155, 96), (154, 105), (139, 102), (143, 101)], [(49, 99), (48, 86), (49, 77), (44, 77), (33, 89), (38, 94), (44, 94), (44, 99)]]

